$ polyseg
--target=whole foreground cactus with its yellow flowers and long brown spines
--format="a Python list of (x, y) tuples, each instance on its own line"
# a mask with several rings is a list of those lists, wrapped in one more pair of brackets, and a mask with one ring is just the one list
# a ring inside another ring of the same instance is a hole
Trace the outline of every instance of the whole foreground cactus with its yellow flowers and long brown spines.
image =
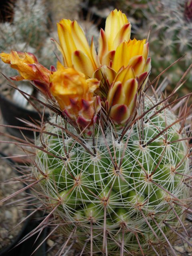
[(29, 128), (40, 132), (34, 144), (14, 143), (35, 155), (23, 181), (49, 212), (28, 236), (54, 226), (46, 238), (63, 235), (59, 256), (68, 244), (78, 255), (176, 256), (174, 242), (187, 241), (191, 94), (171, 101), (183, 76), (168, 98), (158, 96), (148, 42), (131, 40), (130, 30), (126, 15), (112, 11), (96, 52), (76, 21), (61, 20), (63, 63), (51, 70), (31, 53), (0, 54), (20, 73), (12, 80), (31, 80), (53, 112)]

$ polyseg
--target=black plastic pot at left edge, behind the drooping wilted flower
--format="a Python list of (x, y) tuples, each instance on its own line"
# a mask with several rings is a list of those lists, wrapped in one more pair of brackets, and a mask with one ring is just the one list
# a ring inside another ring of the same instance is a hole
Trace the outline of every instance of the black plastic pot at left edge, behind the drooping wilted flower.
[[(24, 124), (24, 122), (18, 120), (17, 118), (25, 119), (29, 122), (32, 122), (32, 120), (41, 121), (38, 112), (17, 106), (14, 102), (8, 100), (2, 94), (0, 94), (0, 109), (2, 112), (4, 124), (29, 128), (26, 124)], [(44, 114), (44, 118), (48, 118), (48, 116), (49, 115), (47, 113)], [(23, 138), (19, 129), (9, 127), (6, 129), (10, 134), (19, 138)], [(34, 132), (32, 131), (22, 130), (22, 133), (28, 138), (34, 138)]]

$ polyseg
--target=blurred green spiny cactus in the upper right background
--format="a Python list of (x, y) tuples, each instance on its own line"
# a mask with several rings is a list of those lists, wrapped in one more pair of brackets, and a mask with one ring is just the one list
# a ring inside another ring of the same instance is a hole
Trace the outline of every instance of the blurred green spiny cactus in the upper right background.
[[(161, 0), (150, 12), (145, 10), (144, 14), (147, 18), (146, 25), (139, 28), (136, 34), (139, 35), (142, 32), (142, 35), (147, 36), (150, 30), (150, 54), (154, 77), (186, 54), (162, 76), (162, 78), (165, 76), (168, 78), (173, 88), (192, 60), (192, 1)], [(192, 89), (191, 71), (186, 78), (183, 94)]]

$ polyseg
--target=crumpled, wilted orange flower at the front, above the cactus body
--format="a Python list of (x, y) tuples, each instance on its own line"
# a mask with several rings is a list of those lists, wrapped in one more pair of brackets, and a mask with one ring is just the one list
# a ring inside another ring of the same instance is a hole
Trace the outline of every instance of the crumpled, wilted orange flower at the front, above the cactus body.
[(58, 62), (57, 71), (51, 75), (50, 82), (52, 95), (71, 120), (83, 127), (92, 122), (98, 111), (93, 96), (100, 84), (96, 78), (86, 79), (83, 73), (74, 68), (65, 68)]

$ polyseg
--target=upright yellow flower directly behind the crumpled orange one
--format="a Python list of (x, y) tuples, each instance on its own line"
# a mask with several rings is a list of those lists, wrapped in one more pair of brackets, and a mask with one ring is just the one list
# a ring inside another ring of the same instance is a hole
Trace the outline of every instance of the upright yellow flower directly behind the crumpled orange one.
[(58, 44), (64, 57), (64, 66), (84, 73), (87, 78), (93, 76), (100, 66), (94, 43), (89, 46), (82, 28), (76, 20), (61, 20), (58, 24)]

